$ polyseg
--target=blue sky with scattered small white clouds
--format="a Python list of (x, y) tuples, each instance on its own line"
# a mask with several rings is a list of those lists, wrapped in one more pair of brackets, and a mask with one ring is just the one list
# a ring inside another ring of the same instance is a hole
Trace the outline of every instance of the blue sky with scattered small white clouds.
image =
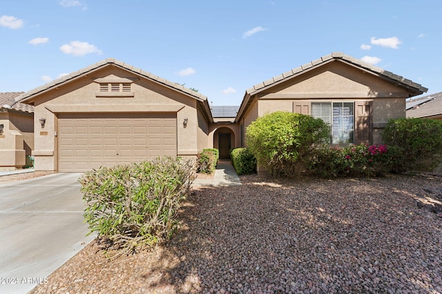
[(0, 92), (115, 58), (213, 105), (331, 52), (442, 92), (442, 1), (2, 0)]

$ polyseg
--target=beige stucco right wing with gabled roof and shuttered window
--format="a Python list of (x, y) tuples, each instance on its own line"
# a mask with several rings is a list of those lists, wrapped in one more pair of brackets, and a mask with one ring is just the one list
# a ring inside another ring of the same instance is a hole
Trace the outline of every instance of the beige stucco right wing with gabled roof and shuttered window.
[(323, 118), (331, 143), (378, 144), (390, 118), (405, 117), (405, 99), (425, 87), (342, 53), (332, 53), (270, 78), (246, 91), (236, 117), (245, 128), (269, 112)]

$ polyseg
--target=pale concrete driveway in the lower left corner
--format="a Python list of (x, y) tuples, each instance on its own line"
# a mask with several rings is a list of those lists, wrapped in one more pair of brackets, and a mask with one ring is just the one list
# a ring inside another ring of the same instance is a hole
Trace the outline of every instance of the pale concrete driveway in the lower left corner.
[(28, 293), (95, 238), (86, 237), (79, 176), (0, 185), (0, 293)]

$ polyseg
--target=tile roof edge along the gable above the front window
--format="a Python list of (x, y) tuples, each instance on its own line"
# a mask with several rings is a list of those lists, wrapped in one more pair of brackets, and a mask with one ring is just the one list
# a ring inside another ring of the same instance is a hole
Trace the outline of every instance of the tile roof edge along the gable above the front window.
[(249, 88), (246, 91), (246, 94), (250, 94), (250, 95), (256, 94), (257, 92), (260, 92), (261, 90), (264, 90), (271, 85), (274, 85), (276, 83), (280, 83), (281, 81), (284, 81), (284, 80), (291, 78), (293, 76), (297, 76), (298, 74), (301, 74), (302, 72), (309, 70), (311, 67), (316, 67), (318, 65), (322, 65), (323, 63), (327, 63), (332, 60), (346, 61), (347, 63), (351, 63), (353, 65), (357, 65), (358, 67), (362, 67), (363, 69), (365, 69), (369, 72), (374, 72), (375, 74), (381, 74), (382, 76), (390, 78), (393, 81), (401, 83), (405, 87), (411, 87), (416, 92), (421, 92), (420, 94), (422, 94), (423, 92), (427, 92), (427, 90), (428, 90), (427, 88), (422, 87), (418, 83), (414, 83), (413, 81), (410, 81), (407, 78), (403, 78), (403, 76), (398, 76), (396, 74), (393, 74), (392, 72), (388, 72), (387, 70), (383, 70), (381, 67), (376, 67), (376, 66), (371, 65), (369, 63), (365, 63), (364, 61), (361, 61), (360, 59), (355, 59), (354, 57), (349, 56), (347, 54), (343, 54), (342, 52), (333, 52), (331, 54), (322, 56), (320, 59), (316, 59), (314, 61), (306, 63), (305, 65), (301, 65), (300, 67), (296, 67), (293, 70), (289, 70), (288, 72), (280, 74), (279, 76), (275, 76), (273, 78), (270, 78), (267, 81), (256, 84), (253, 87)]

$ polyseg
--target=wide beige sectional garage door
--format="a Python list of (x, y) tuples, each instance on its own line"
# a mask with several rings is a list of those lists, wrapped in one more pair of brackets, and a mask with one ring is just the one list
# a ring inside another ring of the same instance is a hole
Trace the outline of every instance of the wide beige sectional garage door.
[(176, 156), (176, 114), (60, 114), (58, 171)]

